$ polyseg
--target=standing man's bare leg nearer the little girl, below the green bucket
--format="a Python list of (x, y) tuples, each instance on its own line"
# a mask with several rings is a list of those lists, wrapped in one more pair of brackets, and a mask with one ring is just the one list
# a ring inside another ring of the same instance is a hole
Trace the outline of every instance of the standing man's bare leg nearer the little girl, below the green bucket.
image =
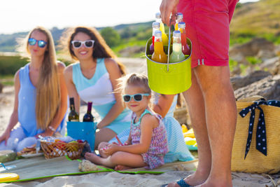
[[(198, 166), (194, 174), (184, 179), (190, 186), (197, 186), (207, 180), (211, 170), (211, 150), (205, 119), (204, 98), (197, 78), (192, 71), (192, 85), (190, 89), (183, 92), (190, 120), (192, 123), (195, 137), (197, 140)], [(179, 186), (176, 183), (170, 183), (169, 186)]]

